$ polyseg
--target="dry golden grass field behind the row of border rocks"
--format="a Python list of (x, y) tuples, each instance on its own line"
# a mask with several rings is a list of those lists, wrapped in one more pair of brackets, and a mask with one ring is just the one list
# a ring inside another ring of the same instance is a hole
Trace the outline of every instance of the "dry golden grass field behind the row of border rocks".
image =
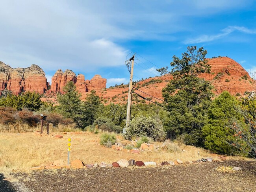
[[(135, 159), (135, 161), (195, 161), (203, 157), (217, 156), (209, 151), (193, 146), (181, 146), (180, 150), (169, 152), (168, 150), (142, 151), (140, 154), (132, 154), (126, 150), (117, 151), (106, 148), (99, 144), (100, 134), (91, 132), (80, 132), (62, 134), (50, 132), (50, 135), (36, 135), (35, 133), (0, 133), (0, 173), (8, 175), (10, 172), (29, 172), (33, 166), (40, 166), (48, 162), (62, 159), (67, 163), (67, 144), (71, 138), (70, 160), (80, 159), (84, 163), (112, 163), (120, 159)], [(61, 134), (63, 138), (55, 138)], [(123, 140), (121, 135), (117, 136), (122, 143), (131, 144)], [(155, 146), (163, 143), (153, 142)], [(167, 142), (168, 144), (168, 142)], [(172, 143), (171, 145), (176, 145)], [(198, 156), (198, 151), (200, 156)]]

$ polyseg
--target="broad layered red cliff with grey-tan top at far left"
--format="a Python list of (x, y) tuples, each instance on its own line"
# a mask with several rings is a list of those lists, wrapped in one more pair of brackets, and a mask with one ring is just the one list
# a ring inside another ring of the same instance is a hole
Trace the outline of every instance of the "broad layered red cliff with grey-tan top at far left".
[(11, 68), (0, 61), (0, 91), (6, 88), (16, 95), (22, 91), (35, 91), (43, 94), (47, 87), (45, 72), (39, 66)]

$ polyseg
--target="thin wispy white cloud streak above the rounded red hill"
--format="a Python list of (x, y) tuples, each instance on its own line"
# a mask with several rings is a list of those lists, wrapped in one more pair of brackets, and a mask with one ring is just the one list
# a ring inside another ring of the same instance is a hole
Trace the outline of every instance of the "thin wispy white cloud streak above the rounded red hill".
[(187, 39), (183, 43), (184, 44), (193, 44), (193, 43), (215, 41), (217, 39), (221, 39), (222, 37), (229, 35), (230, 33), (233, 33), (234, 31), (239, 31), (241, 33), (247, 33), (247, 34), (256, 34), (255, 29), (249, 29), (249, 28), (240, 27), (240, 26), (228, 26), (228, 27), (224, 28), (223, 30), (221, 30), (221, 33), (217, 33), (215, 35), (201, 35), (201, 36), (193, 38), (193, 39)]

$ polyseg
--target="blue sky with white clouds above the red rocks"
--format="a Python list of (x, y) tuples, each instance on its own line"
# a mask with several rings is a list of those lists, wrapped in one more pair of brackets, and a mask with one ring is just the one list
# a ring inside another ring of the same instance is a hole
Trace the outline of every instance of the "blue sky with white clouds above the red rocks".
[(48, 81), (59, 68), (100, 74), (109, 87), (128, 83), (131, 52), (137, 80), (196, 45), (256, 71), (255, 10), (254, 0), (2, 0), (0, 61), (37, 64)]

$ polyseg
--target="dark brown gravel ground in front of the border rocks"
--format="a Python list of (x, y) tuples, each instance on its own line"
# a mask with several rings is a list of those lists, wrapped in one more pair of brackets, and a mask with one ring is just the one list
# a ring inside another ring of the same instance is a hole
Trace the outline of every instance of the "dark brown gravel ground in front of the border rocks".
[[(242, 171), (223, 173), (214, 170), (223, 165), (239, 166)], [(25, 188), (26, 192), (256, 192), (256, 161), (153, 168), (44, 170), (30, 175), (19, 173), (15, 177), (20, 180), (19, 185), (14, 184), (20, 192)]]

